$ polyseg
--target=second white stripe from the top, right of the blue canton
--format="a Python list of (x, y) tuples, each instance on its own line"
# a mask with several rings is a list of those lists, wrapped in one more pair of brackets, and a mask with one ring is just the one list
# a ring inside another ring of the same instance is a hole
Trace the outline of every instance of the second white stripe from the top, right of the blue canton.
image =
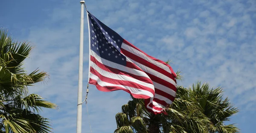
[[(126, 58), (128, 58), (128, 57), (126, 57)], [(173, 84), (175, 87), (177, 87), (177, 84), (175, 83), (175, 81), (174, 81), (172, 78), (169, 78), (168, 76), (164, 75), (164, 74), (161, 73), (161, 72), (157, 72), (157, 71), (154, 70), (154, 69), (151, 69), (151, 68), (149, 68), (149, 67), (147, 67), (147, 66), (144, 66), (143, 64), (140, 64), (140, 63), (138, 63), (137, 61), (132, 60), (131, 58), (129, 58), (129, 60), (130, 60), (132, 63), (136, 64), (138, 67), (140, 67), (143, 71), (148, 72), (148, 73), (150, 73), (150, 74), (152, 74), (152, 75), (154, 75), (154, 76), (157, 76), (158, 78), (162, 78), (163, 80), (165, 80), (165, 81), (167, 81), (167, 82)], [(128, 60), (127, 60), (127, 61), (128, 61)], [(158, 88), (157, 88), (157, 89), (158, 89)]]

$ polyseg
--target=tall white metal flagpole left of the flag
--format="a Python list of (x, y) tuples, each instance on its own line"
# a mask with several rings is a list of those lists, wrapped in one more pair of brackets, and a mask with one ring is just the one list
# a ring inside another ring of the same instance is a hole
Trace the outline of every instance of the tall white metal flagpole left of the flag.
[(79, 78), (77, 96), (76, 133), (82, 131), (82, 96), (83, 96), (83, 50), (84, 50), (84, 0), (81, 3), (80, 50), (79, 50)]

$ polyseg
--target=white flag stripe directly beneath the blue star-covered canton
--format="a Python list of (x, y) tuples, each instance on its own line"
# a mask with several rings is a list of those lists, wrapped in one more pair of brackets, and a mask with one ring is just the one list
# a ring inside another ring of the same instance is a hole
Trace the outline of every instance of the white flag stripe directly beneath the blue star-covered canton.
[[(149, 78), (148, 75), (145, 72), (143, 72), (143, 71), (140, 71), (140, 70), (137, 70), (137, 69), (133, 69), (133, 68), (129, 68), (129, 67), (125, 67), (123, 65), (114, 63), (112, 61), (108, 61), (108, 60), (106, 60), (104, 58), (101, 58), (93, 50), (90, 50), (90, 51), (91, 51), (91, 55), (94, 58), (96, 58), (97, 61), (99, 61), (101, 64), (104, 64), (105, 66), (112, 67), (112, 68), (115, 68), (115, 69), (119, 69), (121, 71), (128, 72), (128, 73), (131, 73), (131, 74), (134, 74), (134, 75), (137, 75), (137, 76)], [(129, 62), (131, 62), (131, 61), (129, 61)]]

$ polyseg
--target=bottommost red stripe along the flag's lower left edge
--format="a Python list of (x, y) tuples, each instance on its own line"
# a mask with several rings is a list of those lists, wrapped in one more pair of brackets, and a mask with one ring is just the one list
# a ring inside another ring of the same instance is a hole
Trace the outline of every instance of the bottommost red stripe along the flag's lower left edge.
[(146, 99), (150, 98), (147, 95), (132, 94), (129, 90), (126, 90), (126, 89), (124, 89), (122, 87), (117, 87), (117, 86), (102, 87), (102, 86), (100, 86), (98, 84), (98, 82), (96, 80), (91, 79), (91, 78), (89, 80), (89, 83), (95, 85), (98, 90), (103, 91), (103, 92), (111, 92), (111, 91), (116, 91), (116, 90), (124, 90), (127, 93), (130, 93), (134, 98), (146, 98)]

